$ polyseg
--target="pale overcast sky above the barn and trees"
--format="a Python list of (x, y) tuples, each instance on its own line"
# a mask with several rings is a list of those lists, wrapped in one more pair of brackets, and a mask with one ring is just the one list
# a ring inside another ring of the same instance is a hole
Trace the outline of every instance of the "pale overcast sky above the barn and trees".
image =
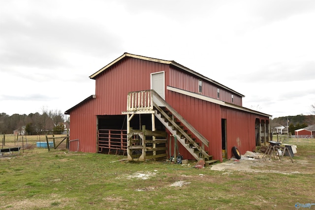
[(0, 113), (64, 112), (125, 52), (175, 60), (274, 118), (315, 104), (315, 0), (0, 0)]

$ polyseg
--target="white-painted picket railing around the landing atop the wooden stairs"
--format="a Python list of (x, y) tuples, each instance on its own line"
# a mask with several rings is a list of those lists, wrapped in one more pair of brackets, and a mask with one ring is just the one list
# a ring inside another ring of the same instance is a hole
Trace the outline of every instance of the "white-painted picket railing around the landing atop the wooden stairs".
[(152, 110), (153, 110), (152, 90), (142, 90), (128, 93), (127, 112)]

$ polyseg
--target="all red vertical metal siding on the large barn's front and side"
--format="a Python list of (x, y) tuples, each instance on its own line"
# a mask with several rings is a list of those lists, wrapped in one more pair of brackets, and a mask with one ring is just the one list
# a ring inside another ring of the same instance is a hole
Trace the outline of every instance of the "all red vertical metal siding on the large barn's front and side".
[[(166, 86), (171, 86), (198, 93), (198, 78), (174, 67), (170, 68), (168, 64), (126, 57), (97, 76), (96, 98), (80, 104), (71, 111), (70, 139), (79, 139), (79, 150), (96, 152), (97, 116), (121, 115), (126, 111), (127, 93), (149, 90), (151, 73), (160, 71), (165, 72), (165, 100), (208, 139), (209, 154), (215, 159), (222, 160), (221, 119), (226, 119), (227, 124), (228, 158), (232, 156), (233, 146), (237, 146), (242, 153), (254, 148), (256, 116), (166, 90)], [(202, 94), (217, 99), (217, 88), (214, 84), (203, 81)], [(220, 89), (219, 99), (231, 103), (231, 94)], [(233, 95), (234, 104), (242, 105), (242, 97)], [(182, 147), (180, 152), (185, 158), (192, 158)]]

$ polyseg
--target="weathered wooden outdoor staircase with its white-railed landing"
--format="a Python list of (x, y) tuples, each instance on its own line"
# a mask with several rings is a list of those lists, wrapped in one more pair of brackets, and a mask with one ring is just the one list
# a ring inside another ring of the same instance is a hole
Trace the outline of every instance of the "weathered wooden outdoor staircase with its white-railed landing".
[[(130, 92), (127, 103), (129, 112), (123, 114), (140, 114), (141, 110), (144, 113), (152, 113), (196, 160), (203, 159), (206, 165), (218, 161), (213, 160), (212, 155), (209, 155), (208, 151), (205, 150), (209, 147), (209, 141), (161, 98), (155, 90)], [(158, 104), (161, 105), (158, 106)], [(199, 142), (196, 142), (196, 139)]]

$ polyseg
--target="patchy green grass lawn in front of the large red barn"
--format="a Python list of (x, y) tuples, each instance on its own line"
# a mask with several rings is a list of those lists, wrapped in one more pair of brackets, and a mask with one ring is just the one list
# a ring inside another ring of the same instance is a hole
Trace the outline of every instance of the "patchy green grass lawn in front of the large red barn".
[(294, 163), (257, 160), (255, 172), (117, 161), (126, 156), (48, 151), (35, 147), (38, 136), (27, 140), (24, 153), (0, 157), (1, 209), (288, 210), (315, 203), (315, 139), (285, 142), (297, 145)]

